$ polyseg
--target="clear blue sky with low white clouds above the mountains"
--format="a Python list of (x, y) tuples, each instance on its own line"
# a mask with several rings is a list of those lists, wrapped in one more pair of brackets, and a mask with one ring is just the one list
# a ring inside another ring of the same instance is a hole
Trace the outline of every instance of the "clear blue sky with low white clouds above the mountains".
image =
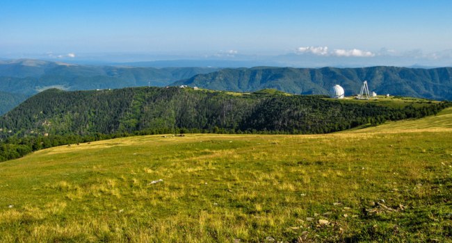
[(0, 58), (452, 65), (452, 1), (1, 0)]

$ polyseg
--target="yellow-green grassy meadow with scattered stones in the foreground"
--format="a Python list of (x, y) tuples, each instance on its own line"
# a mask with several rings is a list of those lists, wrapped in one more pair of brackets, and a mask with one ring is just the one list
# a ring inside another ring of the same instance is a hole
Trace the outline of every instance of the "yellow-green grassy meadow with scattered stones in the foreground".
[(326, 135), (124, 137), (0, 163), (0, 242), (451, 242), (452, 108)]

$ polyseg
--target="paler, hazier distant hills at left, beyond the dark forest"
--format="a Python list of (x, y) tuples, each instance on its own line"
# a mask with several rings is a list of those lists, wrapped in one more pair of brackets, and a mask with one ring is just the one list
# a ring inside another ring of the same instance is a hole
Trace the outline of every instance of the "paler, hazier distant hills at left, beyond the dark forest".
[(136, 86), (165, 86), (172, 82), (206, 74), (218, 69), (207, 67), (112, 67), (72, 65), (43, 60), (0, 61), (0, 92), (8, 92), (10, 101), (0, 99), (0, 115), (42, 90), (114, 89)]

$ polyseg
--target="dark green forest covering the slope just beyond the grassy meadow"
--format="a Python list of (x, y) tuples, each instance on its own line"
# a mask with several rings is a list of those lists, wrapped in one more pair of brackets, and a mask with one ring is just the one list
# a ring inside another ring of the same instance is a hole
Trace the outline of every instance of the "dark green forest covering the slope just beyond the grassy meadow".
[(30, 151), (129, 135), (316, 134), (433, 115), (446, 103), (401, 108), (276, 90), (229, 93), (179, 87), (46, 90), (0, 117), (0, 160)]

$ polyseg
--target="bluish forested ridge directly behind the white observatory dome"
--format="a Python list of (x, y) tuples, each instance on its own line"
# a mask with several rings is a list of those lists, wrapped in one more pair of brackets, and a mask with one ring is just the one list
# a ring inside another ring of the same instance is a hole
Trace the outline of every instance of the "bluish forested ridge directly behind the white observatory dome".
[(174, 85), (184, 84), (235, 92), (275, 88), (292, 94), (328, 94), (333, 85), (339, 84), (344, 87), (346, 95), (353, 95), (360, 92), (363, 81), (368, 81), (369, 89), (377, 94), (452, 100), (452, 67), (221, 69), (210, 74), (198, 74), (184, 81), (178, 81)]

